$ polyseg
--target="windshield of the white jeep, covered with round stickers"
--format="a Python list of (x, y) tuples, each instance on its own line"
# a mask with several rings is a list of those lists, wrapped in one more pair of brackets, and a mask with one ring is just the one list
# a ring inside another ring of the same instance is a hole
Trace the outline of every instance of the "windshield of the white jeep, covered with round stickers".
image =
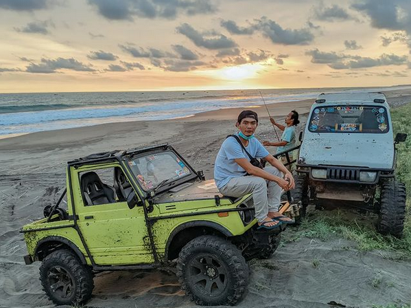
[(387, 133), (390, 128), (384, 107), (336, 105), (316, 107), (308, 130), (313, 133)]

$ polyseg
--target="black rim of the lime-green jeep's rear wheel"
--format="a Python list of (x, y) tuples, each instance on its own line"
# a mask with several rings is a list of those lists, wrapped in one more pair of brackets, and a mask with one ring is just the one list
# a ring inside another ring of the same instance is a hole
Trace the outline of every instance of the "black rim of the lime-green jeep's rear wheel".
[(60, 300), (68, 300), (73, 295), (73, 277), (61, 266), (54, 266), (47, 273), (51, 292)]

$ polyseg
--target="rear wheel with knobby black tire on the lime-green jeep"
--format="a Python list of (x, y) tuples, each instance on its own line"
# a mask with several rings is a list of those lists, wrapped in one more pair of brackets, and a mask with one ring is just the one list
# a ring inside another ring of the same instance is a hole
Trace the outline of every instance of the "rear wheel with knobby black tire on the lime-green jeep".
[(43, 259), (40, 282), (56, 305), (82, 305), (94, 288), (93, 273), (69, 250), (58, 250)]

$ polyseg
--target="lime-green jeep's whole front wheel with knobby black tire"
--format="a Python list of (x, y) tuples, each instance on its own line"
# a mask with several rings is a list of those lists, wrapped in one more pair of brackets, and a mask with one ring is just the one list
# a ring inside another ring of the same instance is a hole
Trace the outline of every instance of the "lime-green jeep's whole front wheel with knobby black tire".
[(197, 305), (235, 305), (248, 285), (248, 265), (235, 245), (218, 236), (199, 236), (178, 255), (181, 289)]

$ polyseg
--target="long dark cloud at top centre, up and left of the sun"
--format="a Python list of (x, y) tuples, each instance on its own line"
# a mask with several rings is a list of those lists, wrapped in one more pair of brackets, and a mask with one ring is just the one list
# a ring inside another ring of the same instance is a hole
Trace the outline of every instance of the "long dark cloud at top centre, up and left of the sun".
[(234, 41), (228, 39), (223, 34), (215, 32), (200, 33), (188, 23), (183, 23), (183, 25), (178, 26), (176, 30), (178, 33), (187, 36), (196, 46), (204, 47), (208, 50), (221, 50), (237, 46)]

